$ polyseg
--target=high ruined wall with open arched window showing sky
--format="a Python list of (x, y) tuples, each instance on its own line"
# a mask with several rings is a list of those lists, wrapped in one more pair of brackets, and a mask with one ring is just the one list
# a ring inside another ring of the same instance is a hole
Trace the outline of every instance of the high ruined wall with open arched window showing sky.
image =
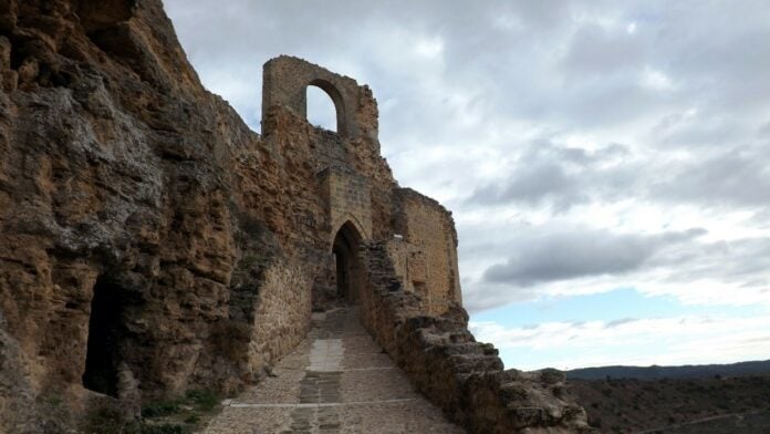
[[(337, 133), (314, 128), (305, 120), (306, 87), (318, 85), (334, 102)], [(394, 188), (391, 167), (381, 155), (377, 103), (372, 90), (355, 80), (292, 56), (279, 56), (264, 65), (262, 133), (278, 147), (308, 141), (316, 172), (343, 168), (368, 184), (372, 238), (393, 235)], [(301, 134), (299, 134), (301, 133)], [(336, 227), (330, 230), (335, 230)]]

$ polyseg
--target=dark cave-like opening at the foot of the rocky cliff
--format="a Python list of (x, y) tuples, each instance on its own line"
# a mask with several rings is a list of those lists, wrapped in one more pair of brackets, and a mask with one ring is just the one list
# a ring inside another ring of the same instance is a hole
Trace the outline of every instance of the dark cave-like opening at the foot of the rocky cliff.
[(125, 334), (118, 288), (100, 277), (94, 286), (89, 319), (89, 343), (83, 386), (117, 396), (119, 343)]

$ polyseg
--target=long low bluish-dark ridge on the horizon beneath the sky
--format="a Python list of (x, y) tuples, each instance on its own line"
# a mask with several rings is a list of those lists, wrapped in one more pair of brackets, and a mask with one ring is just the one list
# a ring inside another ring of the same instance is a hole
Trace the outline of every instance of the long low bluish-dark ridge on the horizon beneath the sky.
[(705, 379), (716, 375), (739, 376), (770, 374), (770, 360), (740, 362), (732, 364), (699, 364), (684, 366), (600, 366), (564, 371), (568, 379), (604, 380), (611, 379)]

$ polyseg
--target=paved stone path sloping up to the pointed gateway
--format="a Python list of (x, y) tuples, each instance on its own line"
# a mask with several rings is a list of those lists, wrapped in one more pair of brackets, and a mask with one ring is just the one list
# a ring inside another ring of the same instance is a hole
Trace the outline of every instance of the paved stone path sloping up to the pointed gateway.
[(464, 433), (409, 384), (360, 323), (357, 308), (313, 316), (308, 338), (232, 400), (209, 434)]

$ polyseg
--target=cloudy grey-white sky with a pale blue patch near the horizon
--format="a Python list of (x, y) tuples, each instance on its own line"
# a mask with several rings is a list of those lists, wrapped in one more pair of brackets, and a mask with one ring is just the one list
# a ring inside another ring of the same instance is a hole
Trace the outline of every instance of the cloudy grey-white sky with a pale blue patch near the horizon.
[(166, 8), (256, 131), (275, 55), (372, 86), (396, 177), (455, 214), (472, 329), (507, 366), (770, 359), (769, 2)]

